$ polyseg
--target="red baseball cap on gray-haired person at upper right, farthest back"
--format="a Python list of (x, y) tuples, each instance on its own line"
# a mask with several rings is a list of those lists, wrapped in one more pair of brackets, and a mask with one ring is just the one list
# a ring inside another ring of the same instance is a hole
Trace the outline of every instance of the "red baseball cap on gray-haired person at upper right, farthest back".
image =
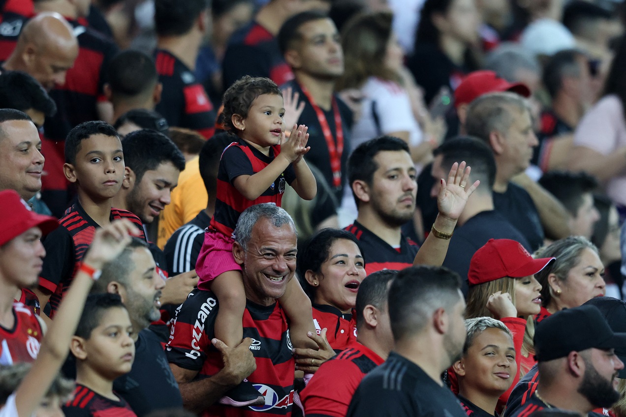
[(496, 91), (511, 91), (526, 98), (530, 97), (530, 89), (526, 84), (509, 83), (493, 71), (474, 71), (463, 78), (461, 84), (454, 90), (454, 107), (469, 104), (483, 94)]

